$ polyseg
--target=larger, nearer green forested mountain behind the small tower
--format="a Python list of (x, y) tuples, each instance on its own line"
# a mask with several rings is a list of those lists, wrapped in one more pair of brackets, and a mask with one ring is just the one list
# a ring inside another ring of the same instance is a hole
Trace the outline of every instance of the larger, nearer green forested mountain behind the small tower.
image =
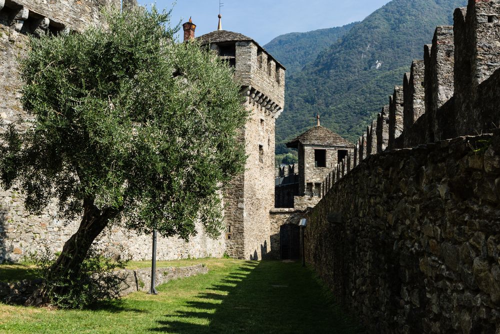
[[(276, 153), (315, 125), (354, 142), (402, 85), (413, 59), (423, 58), (436, 26), (452, 24), (466, 0), (393, 0), (354, 25), (314, 61), (287, 76), (285, 110), (276, 122)], [(278, 61), (279, 56), (276, 56)]]

